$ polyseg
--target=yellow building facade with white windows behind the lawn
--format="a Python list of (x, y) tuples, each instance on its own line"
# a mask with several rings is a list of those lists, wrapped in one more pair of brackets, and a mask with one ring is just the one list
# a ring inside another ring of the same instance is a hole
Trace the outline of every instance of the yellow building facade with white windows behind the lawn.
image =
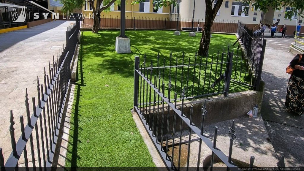
[[(96, 3), (95, 3), (96, 5)], [(87, 1), (82, 8), (82, 13), (86, 17), (92, 16), (92, 7)], [(103, 11), (100, 14), (101, 18), (115, 17), (120, 18), (120, 6), (112, 4), (109, 11)], [(139, 4), (131, 5), (131, 1), (126, 2), (126, 18), (167, 18), (170, 16), (170, 6), (159, 8), (154, 10), (153, 0), (146, 0), (146, 2), (140, 2)]]

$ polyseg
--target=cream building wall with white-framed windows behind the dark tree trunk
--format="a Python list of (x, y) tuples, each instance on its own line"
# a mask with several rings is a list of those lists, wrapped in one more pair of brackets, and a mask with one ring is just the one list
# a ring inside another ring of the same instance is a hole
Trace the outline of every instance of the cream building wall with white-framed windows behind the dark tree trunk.
[[(252, 4), (249, 5), (249, 13), (248, 16), (231, 16), (231, 8), (232, 8), (232, 2), (233, 0), (229, 0), (229, 6), (228, 8), (225, 8), (225, 0), (223, 1), (223, 4), (219, 10), (219, 15), (216, 16), (217, 21), (223, 21), (223, 20), (235, 20), (236, 22), (238, 20), (242, 21), (242, 23), (247, 23), (247, 24), (259, 24), (261, 20), (261, 14), (262, 12), (260, 11), (252, 11), (251, 7)], [(238, 2), (237, 0), (235, 2)], [(192, 14), (193, 14), (193, 5), (194, 5), (194, 0), (185, 0), (181, 2), (181, 7), (180, 7), (180, 17), (181, 19), (192, 19)], [(204, 0), (196, 0), (195, 2), (195, 16), (194, 19), (200, 19), (205, 21), (205, 1)], [(254, 16), (254, 12), (257, 13), (256, 16)], [(172, 15), (171, 19), (174, 17), (177, 17), (177, 15)], [(253, 17), (256, 17), (256, 21), (253, 21)]]

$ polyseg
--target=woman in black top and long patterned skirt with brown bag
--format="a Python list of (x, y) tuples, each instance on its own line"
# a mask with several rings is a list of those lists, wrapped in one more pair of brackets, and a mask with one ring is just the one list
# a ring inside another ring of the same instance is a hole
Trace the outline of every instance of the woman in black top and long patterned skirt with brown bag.
[[(300, 55), (302, 55), (301, 60)], [(285, 106), (288, 112), (295, 112), (301, 116), (304, 114), (304, 54), (297, 54), (290, 62), (295, 68), (290, 76)]]

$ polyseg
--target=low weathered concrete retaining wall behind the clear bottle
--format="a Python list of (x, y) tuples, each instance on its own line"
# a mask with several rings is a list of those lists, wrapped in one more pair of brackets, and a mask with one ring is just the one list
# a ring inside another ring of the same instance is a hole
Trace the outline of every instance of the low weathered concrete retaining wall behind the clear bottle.
[[(259, 106), (259, 112), (261, 110), (261, 104), (263, 99), (263, 90), (264, 90), (264, 82), (262, 81), (260, 84), (259, 92), (254, 90), (248, 90), (244, 92), (235, 92), (228, 94), (227, 97), (223, 95), (213, 96), (209, 99), (206, 99), (206, 110), (207, 115), (205, 117), (205, 125), (213, 124), (216, 122), (230, 120), (237, 117), (244, 117), (247, 115), (247, 112), (254, 107), (254, 105)], [(197, 127), (201, 127), (202, 122), (202, 105), (204, 104), (205, 99), (196, 99), (192, 101), (184, 102), (184, 114), (188, 118), (190, 118), (190, 108), (193, 106), (193, 124)], [(167, 132), (167, 115), (168, 115), (168, 105), (164, 105), (164, 111), (162, 110), (162, 106), (157, 110), (157, 106), (151, 106), (151, 111), (149, 112), (149, 108), (147, 109), (147, 122), (150, 122), (150, 125), (154, 125), (154, 134), (156, 134), (157, 130), (157, 121), (158, 121), (158, 138), (161, 137), (161, 123), (162, 116), (163, 118), (163, 133), (164, 135)], [(177, 108), (181, 109), (181, 102), (177, 104)], [(144, 113), (146, 114), (146, 109), (144, 109)], [(152, 117), (154, 115), (154, 124), (152, 124)], [(151, 120), (149, 120), (151, 118)], [(173, 120), (174, 120), (174, 110), (170, 109), (169, 111), (169, 134), (173, 133)], [(176, 131), (180, 131), (180, 121), (179, 117), (176, 117)], [(182, 129), (188, 129), (186, 124), (182, 124)]]

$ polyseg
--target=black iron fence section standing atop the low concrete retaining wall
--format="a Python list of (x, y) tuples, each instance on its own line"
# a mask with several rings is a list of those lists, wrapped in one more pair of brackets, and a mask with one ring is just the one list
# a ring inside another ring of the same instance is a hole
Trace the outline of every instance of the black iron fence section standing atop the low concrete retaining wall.
[[(209, 97), (218, 94), (227, 96), (232, 74), (232, 55), (232, 53), (227, 54), (224, 52), (218, 53), (216, 56), (207, 57), (195, 54), (193, 60), (190, 57), (185, 58), (183, 53), (181, 61), (179, 61), (178, 58), (173, 58), (172, 54), (170, 54), (170, 60), (166, 62), (165, 59), (160, 61), (158, 54), (155, 64), (151, 60), (150, 65), (147, 65), (147, 57), (145, 55), (143, 64), (138, 69), (143, 75), (150, 77), (150, 80), (154, 79), (158, 89), (161, 88), (164, 82), (169, 80), (172, 82), (172, 94), (181, 94), (182, 89), (185, 88), (186, 99)], [(145, 93), (148, 96), (148, 90), (145, 90), (144, 83), (143, 86), (141, 86), (141, 83), (137, 84), (135, 82), (135, 84), (140, 85), (138, 89), (143, 94), (143, 99), (138, 100), (143, 100), (143, 103), (150, 104), (151, 101), (144, 97)], [(181, 99), (181, 97), (178, 99)]]

